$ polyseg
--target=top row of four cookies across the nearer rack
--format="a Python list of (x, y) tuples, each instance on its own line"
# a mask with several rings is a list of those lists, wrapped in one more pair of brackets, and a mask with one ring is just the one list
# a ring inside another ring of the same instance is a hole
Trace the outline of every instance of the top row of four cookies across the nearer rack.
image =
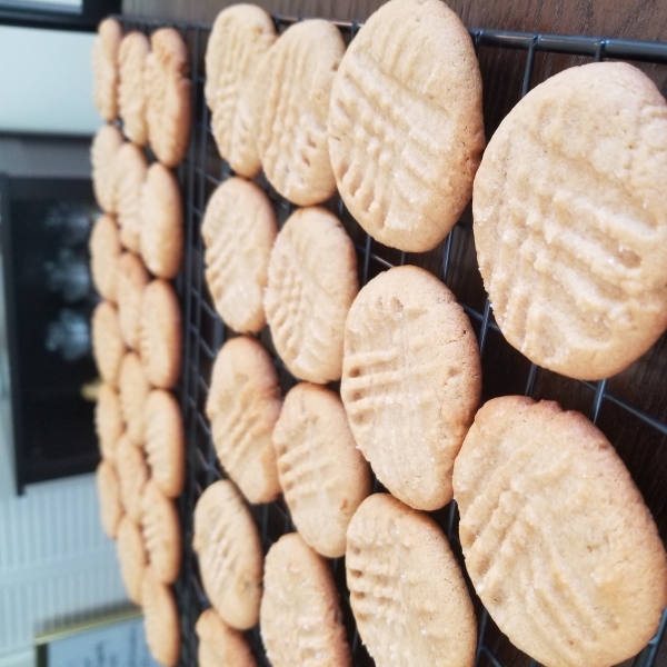
[[(220, 155), (241, 176), (263, 169), (293, 203), (338, 189), (375, 239), (422, 252), (472, 196), (496, 321), (537, 365), (609, 377), (667, 327), (667, 103), (638, 69), (605, 62), (552, 77), (482, 158), (479, 64), (439, 0), (391, 0), (347, 50), (327, 21), (277, 36), (261, 9), (233, 6), (213, 24), (206, 67)], [(603, 136), (609, 109), (627, 122)]]

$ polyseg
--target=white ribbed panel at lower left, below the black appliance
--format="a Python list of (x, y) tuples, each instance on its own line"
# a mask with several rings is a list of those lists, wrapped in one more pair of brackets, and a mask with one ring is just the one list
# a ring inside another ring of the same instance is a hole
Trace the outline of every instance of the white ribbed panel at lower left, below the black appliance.
[(0, 666), (24, 663), (36, 634), (125, 605), (92, 475), (0, 499)]

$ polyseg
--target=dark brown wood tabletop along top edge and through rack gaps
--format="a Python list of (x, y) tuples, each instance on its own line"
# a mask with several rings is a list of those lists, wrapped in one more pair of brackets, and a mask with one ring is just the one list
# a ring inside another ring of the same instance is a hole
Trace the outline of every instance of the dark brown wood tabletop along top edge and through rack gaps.
[[(125, 0), (123, 12), (166, 21), (210, 24), (229, 0)], [(256, 0), (270, 13), (364, 21), (382, 0)], [(594, 37), (667, 41), (667, 0), (448, 0), (469, 28), (539, 31)], [(502, 117), (520, 97), (526, 53), (482, 48), (479, 51), (484, 80), (485, 123), (490, 137)], [(531, 84), (585, 59), (538, 53)], [(667, 66), (639, 66), (667, 92)], [(364, 242), (358, 226), (344, 217), (352, 238)], [(447, 279), (458, 300), (477, 311), (484, 309), (485, 292), (477, 270), (475, 245), (470, 232), (469, 210), (452, 237), (451, 265)], [(379, 245), (374, 250), (390, 262), (399, 253)], [(441, 275), (444, 245), (422, 255), (409, 255), (408, 261)], [(371, 277), (384, 267), (371, 262)], [(479, 323), (474, 322), (479, 331)], [(522, 394), (529, 371), (528, 361), (494, 331), (488, 335), (482, 355), (484, 398)], [(609, 381), (609, 390), (655, 419), (667, 422), (667, 338), (640, 360)], [(591, 415), (594, 391), (556, 374), (538, 370), (534, 397), (558, 400), (568, 409)], [(617, 448), (654, 514), (660, 535), (667, 540), (667, 437), (633, 417), (613, 401), (605, 400), (598, 426)], [(527, 667), (528, 661), (512, 654), (512, 647), (498, 637), (492, 643), (501, 663)], [(484, 660), (482, 660), (484, 664)], [(625, 665), (625, 664), (624, 664)], [(667, 641), (663, 644), (659, 667), (667, 667)]]

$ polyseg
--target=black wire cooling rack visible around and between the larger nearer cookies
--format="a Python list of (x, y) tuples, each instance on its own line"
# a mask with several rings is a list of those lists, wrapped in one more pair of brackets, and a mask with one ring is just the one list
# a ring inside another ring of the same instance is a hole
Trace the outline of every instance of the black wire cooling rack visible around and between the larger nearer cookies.
[[(279, 32), (298, 21), (297, 18), (287, 17), (273, 19)], [(135, 20), (130, 17), (119, 17), (119, 20), (126, 32), (139, 30), (150, 34), (155, 29), (165, 26), (161, 21)], [(359, 24), (354, 22), (335, 24), (341, 30), (346, 42), (354, 38), (359, 28)], [(233, 173), (218, 156), (210, 129), (210, 112), (203, 101), (203, 54), (211, 28), (202, 24), (171, 26), (180, 30), (188, 44), (193, 82), (193, 129), (186, 159), (177, 169), (186, 203), (186, 255), (181, 272), (176, 280), (183, 317), (183, 366), (177, 391), (185, 416), (188, 442), (186, 488), (179, 500), (183, 565), (176, 583), (176, 594), (182, 631), (180, 665), (193, 667), (197, 665), (195, 623), (209, 604), (201, 587), (197, 557), (192, 551), (192, 512), (203, 489), (217, 479), (226, 477), (217, 462), (205, 407), (216, 354), (229, 336), (213, 308), (206, 285), (201, 225), (212, 191)], [(504, 78), (519, 68), (524, 71), (522, 86), (511, 91), (511, 104), (530, 88), (564, 67), (591, 60), (620, 59), (634, 63), (649, 63), (644, 69), (650, 76), (651, 71), (667, 66), (667, 43), (492, 30), (470, 30), (470, 36), (480, 60), (485, 111), (489, 99), (499, 94)], [(485, 53), (497, 50), (502, 51), (502, 68), (489, 64), (485, 58)], [(664, 73), (664, 69), (660, 71)], [(508, 110), (509, 108), (505, 108), (504, 113)], [(498, 113), (490, 116), (485, 113), (488, 137), (501, 120), (496, 118)], [(282, 226), (295, 207), (281, 198), (263, 176), (260, 175), (255, 180), (269, 196), (279, 225)], [(558, 400), (565, 409), (577, 409), (589, 416), (617, 448), (654, 514), (663, 540), (667, 538), (667, 494), (663, 484), (663, 471), (667, 467), (667, 401), (664, 399), (666, 336), (630, 368), (608, 380), (577, 381), (546, 371), (530, 364), (511, 348), (494, 321), (477, 268), (469, 208), (436, 249), (425, 253), (406, 253), (372, 240), (351, 218), (338, 196), (334, 197), (327, 207), (341, 218), (355, 242), (361, 286), (392, 266), (414, 263), (430, 270), (454, 291), (469, 316), (479, 342), (482, 401), (502, 395), (525, 394), (537, 400)], [(267, 328), (260, 332), (259, 339), (271, 352), (280, 384), (283, 391), (287, 391), (297, 380), (276, 355)], [(376, 489), (379, 488), (377, 482), (375, 486)], [(251, 506), (251, 511), (259, 528), (265, 554), (281, 535), (295, 529), (282, 499)], [(456, 557), (462, 564), (456, 504), (451, 502), (431, 515), (448, 536)], [(341, 558), (335, 559), (332, 567), (341, 597), (352, 664), (356, 667), (371, 666), (374, 663), (360, 641), (350, 611), (345, 563)], [(471, 588), (470, 594), (478, 620), (476, 667), (538, 667), (535, 660), (521, 654), (498, 631)], [(656, 637), (638, 657), (624, 663), (624, 667), (667, 666), (665, 648), (660, 651), (666, 625), (667, 616), (664, 614)], [(259, 628), (250, 630), (248, 637), (258, 664), (269, 665)]]

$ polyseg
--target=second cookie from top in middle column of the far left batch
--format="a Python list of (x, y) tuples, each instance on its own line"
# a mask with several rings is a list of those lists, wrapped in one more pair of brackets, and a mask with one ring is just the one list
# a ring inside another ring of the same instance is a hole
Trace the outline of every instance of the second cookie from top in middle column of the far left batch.
[(116, 156), (116, 210), (120, 225), (120, 241), (132, 252), (139, 252), (141, 235), (141, 188), (147, 178), (148, 160), (143, 150), (126, 141)]

